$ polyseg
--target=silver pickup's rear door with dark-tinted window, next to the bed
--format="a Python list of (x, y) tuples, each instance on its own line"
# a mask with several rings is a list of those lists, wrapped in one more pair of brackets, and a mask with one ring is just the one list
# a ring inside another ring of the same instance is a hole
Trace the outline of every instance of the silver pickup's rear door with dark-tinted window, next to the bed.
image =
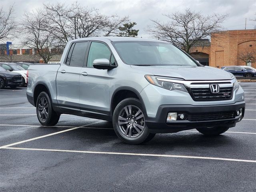
[(64, 63), (58, 69), (56, 77), (57, 101), (62, 111), (80, 111), (79, 78), (84, 66), (88, 44), (88, 41), (71, 44)]

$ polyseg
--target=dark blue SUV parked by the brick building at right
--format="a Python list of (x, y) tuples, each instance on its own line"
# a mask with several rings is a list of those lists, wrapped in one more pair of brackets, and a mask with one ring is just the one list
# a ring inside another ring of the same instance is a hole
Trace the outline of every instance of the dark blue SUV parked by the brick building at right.
[(221, 69), (232, 73), (234, 76), (256, 77), (256, 69), (249, 66), (224, 66)]

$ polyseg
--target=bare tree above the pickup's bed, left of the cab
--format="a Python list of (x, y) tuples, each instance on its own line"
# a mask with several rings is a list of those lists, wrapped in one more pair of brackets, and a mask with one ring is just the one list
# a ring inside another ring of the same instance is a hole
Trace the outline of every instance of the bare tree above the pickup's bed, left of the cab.
[(32, 48), (34, 54), (42, 57), (45, 63), (48, 63), (52, 56), (56, 54), (51, 49), (58, 48), (58, 42), (56, 42), (52, 32), (45, 30), (47, 25), (48, 19), (44, 15), (44, 11), (37, 9), (24, 14), (21, 27), (26, 37), (24, 45)]

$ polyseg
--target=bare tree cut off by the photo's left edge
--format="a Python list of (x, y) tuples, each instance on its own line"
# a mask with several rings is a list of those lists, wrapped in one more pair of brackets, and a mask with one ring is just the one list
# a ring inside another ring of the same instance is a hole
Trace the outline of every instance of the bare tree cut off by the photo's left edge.
[(17, 23), (14, 18), (14, 4), (5, 12), (3, 6), (0, 7), (0, 41), (12, 38), (15, 35)]

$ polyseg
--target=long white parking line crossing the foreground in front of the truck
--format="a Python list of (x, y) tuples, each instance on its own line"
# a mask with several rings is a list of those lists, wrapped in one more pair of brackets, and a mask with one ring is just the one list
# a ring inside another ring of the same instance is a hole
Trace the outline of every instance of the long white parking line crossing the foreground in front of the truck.
[(32, 150), (32, 151), (50, 151), (50, 152), (72, 152), (72, 153), (87, 153), (87, 154), (108, 154), (108, 155), (151, 156), (151, 157), (169, 157), (169, 158), (171, 157), (171, 158), (207, 159), (207, 160), (223, 160), (223, 161), (236, 161), (236, 162), (256, 163), (256, 160), (230, 159), (230, 158), (217, 158), (217, 157), (200, 157), (200, 156), (183, 156), (183, 155), (120, 153), (120, 152), (100, 152), (100, 151), (77, 151), (77, 150), (16, 148), (16, 147), (4, 147), (4, 149)]

